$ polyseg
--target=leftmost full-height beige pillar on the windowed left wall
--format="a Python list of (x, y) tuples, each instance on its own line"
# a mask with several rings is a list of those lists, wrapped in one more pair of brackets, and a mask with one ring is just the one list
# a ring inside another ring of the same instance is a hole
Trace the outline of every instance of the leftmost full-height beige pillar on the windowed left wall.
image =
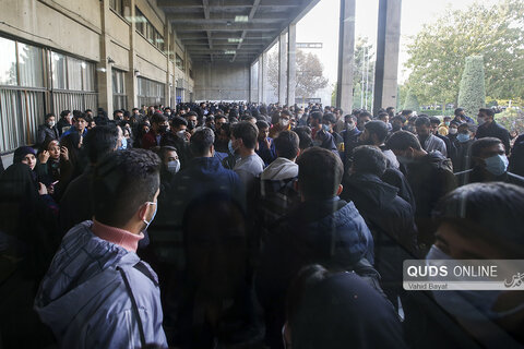
[(98, 105), (107, 110), (112, 118), (112, 77), (111, 64), (107, 62), (107, 47), (110, 45), (110, 37), (106, 34), (106, 23), (109, 21), (109, 0), (100, 1), (102, 35), (100, 35), (100, 61), (97, 64), (98, 82)]

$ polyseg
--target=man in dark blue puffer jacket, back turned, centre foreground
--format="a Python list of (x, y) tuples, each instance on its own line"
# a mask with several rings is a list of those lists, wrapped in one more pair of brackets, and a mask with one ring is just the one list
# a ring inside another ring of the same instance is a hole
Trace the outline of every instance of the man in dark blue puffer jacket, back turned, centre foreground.
[(320, 263), (352, 270), (362, 260), (373, 263), (371, 232), (355, 205), (338, 197), (344, 172), (340, 157), (312, 147), (297, 164), (302, 203), (269, 233), (255, 278), (271, 348), (282, 347), (286, 292), (300, 268)]

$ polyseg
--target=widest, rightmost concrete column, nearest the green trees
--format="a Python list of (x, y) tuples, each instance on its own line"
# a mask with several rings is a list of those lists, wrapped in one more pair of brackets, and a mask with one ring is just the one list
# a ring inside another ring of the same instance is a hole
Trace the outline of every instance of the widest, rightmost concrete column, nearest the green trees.
[[(396, 107), (402, 0), (380, 0), (373, 113)], [(388, 59), (385, 59), (388, 58)]]

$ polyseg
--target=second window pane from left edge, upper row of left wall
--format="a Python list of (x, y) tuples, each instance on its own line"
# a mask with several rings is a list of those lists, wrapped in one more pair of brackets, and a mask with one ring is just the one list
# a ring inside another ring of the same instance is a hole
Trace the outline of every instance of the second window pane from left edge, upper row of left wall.
[(20, 85), (44, 87), (41, 48), (17, 43)]

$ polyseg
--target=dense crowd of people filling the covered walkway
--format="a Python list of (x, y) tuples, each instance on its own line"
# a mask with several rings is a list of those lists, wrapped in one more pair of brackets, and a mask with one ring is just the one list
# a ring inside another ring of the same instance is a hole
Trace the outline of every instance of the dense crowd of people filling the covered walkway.
[(493, 109), (59, 117), (1, 168), (0, 347), (524, 345), (522, 292), (402, 282), (406, 260), (523, 258), (524, 137)]

